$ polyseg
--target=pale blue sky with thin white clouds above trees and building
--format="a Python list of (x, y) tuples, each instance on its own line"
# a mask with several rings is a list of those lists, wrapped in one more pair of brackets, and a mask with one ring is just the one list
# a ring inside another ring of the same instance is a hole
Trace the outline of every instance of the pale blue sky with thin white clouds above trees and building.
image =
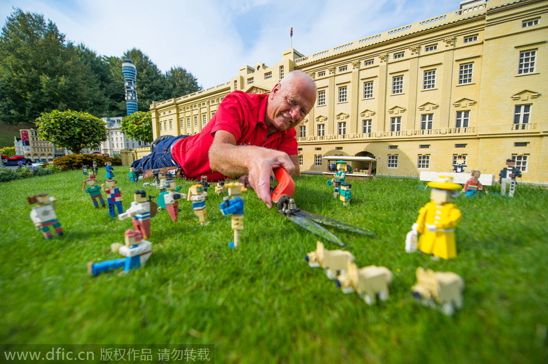
[(101, 55), (136, 47), (162, 71), (182, 66), (204, 88), (238, 68), (271, 66), (293, 47), (304, 55), (458, 10), (460, 0), (0, 0), (51, 19), (68, 40)]

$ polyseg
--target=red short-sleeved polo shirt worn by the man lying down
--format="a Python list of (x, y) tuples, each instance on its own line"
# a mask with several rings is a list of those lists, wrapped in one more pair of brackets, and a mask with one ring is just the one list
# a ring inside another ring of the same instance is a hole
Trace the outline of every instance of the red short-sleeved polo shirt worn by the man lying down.
[(246, 94), (234, 91), (227, 94), (213, 118), (202, 131), (173, 144), (171, 155), (181, 166), (186, 178), (200, 179), (208, 176), (208, 181), (219, 181), (226, 176), (213, 172), (208, 153), (215, 132), (225, 130), (234, 135), (236, 145), (263, 146), (276, 149), (288, 155), (297, 154), (295, 128), (276, 131), (269, 135), (264, 123), (268, 94)]

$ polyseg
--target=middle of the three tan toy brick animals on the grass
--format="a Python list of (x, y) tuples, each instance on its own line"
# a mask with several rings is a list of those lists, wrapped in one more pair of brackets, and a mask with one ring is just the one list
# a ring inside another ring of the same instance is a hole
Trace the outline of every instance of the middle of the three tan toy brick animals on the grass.
[(355, 263), (349, 261), (345, 274), (338, 276), (335, 283), (345, 294), (356, 291), (360, 298), (371, 306), (375, 304), (377, 295), (379, 300), (388, 300), (388, 285), (392, 278), (392, 272), (386, 267), (368, 265), (358, 269)]

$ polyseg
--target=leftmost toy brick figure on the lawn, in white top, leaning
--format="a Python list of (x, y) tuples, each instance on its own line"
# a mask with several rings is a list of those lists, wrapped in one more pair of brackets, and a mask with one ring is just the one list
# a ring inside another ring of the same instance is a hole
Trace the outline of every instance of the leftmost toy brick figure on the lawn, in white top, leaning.
[(29, 205), (36, 203), (36, 207), (30, 211), (30, 218), (36, 227), (36, 230), (42, 231), (45, 239), (51, 239), (51, 228), (55, 230), (58, 236), (63, 235), (61, 223), (55, 215), (55, 197), (49, 197), (48, 194), (37, 194), (27, 197)]

